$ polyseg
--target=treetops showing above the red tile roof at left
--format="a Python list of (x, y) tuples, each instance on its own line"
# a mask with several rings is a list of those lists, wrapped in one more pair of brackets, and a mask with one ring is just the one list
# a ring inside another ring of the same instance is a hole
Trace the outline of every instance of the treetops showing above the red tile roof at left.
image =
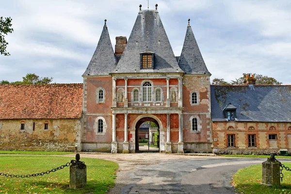
[(7, 80), (0, 81), (0, 84), (21, 84), (21, 85), (34, 85), (34, 84), (48, 84), (51, 83), (53, 78), (39, 77), (34, 73), (28, 73), (25, 77), (22, 77), (22, 81), (9, 82)]

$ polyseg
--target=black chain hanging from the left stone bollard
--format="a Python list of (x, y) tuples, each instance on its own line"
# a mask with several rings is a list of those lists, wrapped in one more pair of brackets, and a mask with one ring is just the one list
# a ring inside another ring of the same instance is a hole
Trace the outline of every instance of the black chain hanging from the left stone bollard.
[(5, 173), (0, 173), (0, 176), (5, 176), (7, 178), (8, 177), (10, 177), (10, 178), (30, 178), (30, 177), (43, 176), (43, 175), (48, 175), (51, 172), (56, 172), (57, 170), (61, 170), (61, 169), (65, 168), (66, 166), (70, 166), (70, 164), (72, 164), (73, 166), (78, 166), (81, 169), (86, 167), (85, 162), (71, 160), (71, 162), (67, 162), (65, 165), (61, 165), (57, 168), (53, 168), (53, 169), (48, 170), (46, 172), (41, 172), (41, 173), (36, 173), (36, 174), (31, 174), (31, 175), (10, 175), (10, 174), (5, 174)]

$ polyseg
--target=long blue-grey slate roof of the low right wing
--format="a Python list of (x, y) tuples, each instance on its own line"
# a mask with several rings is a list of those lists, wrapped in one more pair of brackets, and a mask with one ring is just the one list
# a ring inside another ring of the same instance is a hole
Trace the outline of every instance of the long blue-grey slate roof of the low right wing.
[(237, 121), (291, 122), (291, 85), (211, 85), (212, 121), (226, 121), (223, 108), (237, 108)]

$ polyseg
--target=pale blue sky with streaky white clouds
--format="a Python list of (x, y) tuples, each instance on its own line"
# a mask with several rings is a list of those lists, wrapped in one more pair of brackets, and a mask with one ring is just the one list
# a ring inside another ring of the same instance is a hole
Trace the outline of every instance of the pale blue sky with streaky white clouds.
[[(56, 83), (81, 83), (104, 19), (114, 48), (129, 38), (147, 0), (6, 0), (0, 16), (12, 17), (5, 36), (10, 56), (0, 55), (0, 81), (27, 73)], [(226, 81), (257, 73), (291, 84), (290, 0), (149, 0), (158, 11), (175, 56), (180, 56), (188, 18), (213, 78)]]

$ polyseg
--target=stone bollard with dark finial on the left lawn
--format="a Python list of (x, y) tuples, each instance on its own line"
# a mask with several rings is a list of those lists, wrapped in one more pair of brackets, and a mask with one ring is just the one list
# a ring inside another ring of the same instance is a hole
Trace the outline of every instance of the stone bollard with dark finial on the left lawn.
[(80, 161), (80, 154), (76, 154), (76, 161), (70, 165), (70, 189), (79, 189), (87, 185), (87, 166)]

